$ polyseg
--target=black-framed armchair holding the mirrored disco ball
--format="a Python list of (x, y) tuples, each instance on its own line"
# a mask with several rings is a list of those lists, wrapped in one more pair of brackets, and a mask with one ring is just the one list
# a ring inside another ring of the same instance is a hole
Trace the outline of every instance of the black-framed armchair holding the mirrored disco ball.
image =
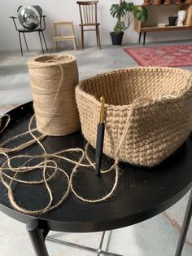
[[(18, 9), (17, 9), (17, 12), (20, 10), (22, 6), (20, 6)], [(42, 38), (43, 38), (43, 41), (45, 43), (45, 46), (46, 46), (46, 39), (44, 37), (44, 34), (43, 34), (43, 31), (46, 29), (46, 15), (42, 15), (42, 9), (41, 7), (39, 6), (33, 6), (34, 8), (37, 9), (39, 15), (40, 15), (40, 24), (38, 25), (38, 27), (36, 29), (25, 29), (25, 28), (22, 28), (22, 29), (18, 29), (17, 25), (16, 25), (16, 22), (15, 20), (17, 19), (15, 16), (11, 16), (10, 18), (13, 20), (14, 24), (15, 24), (15, 29), (16, 31), (18, 31), (19, 33), (19, 38), (20, 38), (20, 33), (23, 33), (24, 35), (24, 42), (25, 42), (25, 45), (26, 45), (26, 48), (27, 48), (27, 51), (28, 51), (28, 44), (27, 44), (27, 40), (25, 38), (25, 33), (33, 33), (33, 32), (38, 32), (39, 34), (39, 39), (40, 39), (40, 42), (41, 42), (41, 50), (42, 50), (42, 53), (44, 54), (44, 50), (43, 50), (43, 46), (42, 46), (42, 40), (41, 40), (41, 35), (42, 35)], [(43, 20), (43, 24), (41, 24), (41, 21)], [(48, 51), (48, 48), (46, 46), (46, 51)], [(22, 42), (21, 42), (21, 38), (20, 38), (20, 53), (21, 55), (23, 56), (23, 48), (22, 48)]]

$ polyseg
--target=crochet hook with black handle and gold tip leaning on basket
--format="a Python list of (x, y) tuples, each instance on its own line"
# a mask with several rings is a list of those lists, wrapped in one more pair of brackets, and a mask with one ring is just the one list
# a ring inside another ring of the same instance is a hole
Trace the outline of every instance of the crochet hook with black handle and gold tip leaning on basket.
[(100, 174), (100, 169), (102, 164), (102, 155), (103, 155), (103, 140), (104, 140), (104, 132), (105, 132), (105, 121), (104, 121), (105, 99), (104, 97), (101, 97), (100, 101), (102, 103), (102, 106), (101, 106), (100, 120), (98, 123), (96, 152), (95, 152), (95, 174), (96, 175)]

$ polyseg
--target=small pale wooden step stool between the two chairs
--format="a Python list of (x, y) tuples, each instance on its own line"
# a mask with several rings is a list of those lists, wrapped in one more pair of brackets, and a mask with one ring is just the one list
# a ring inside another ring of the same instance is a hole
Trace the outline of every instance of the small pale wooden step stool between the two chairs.
[[(66, 40), (72, 40), (74, 50), (76, 50), (76, 35), (75, 35), (75, 29), (73, 26), (73, 22), (72, 21), (55, 21), (53, 23), (53, 26), (54, 26), (54, 37), (53, 37), (54, 51), (55, 51), (55, 47), (58, 47), (57, 42), (66, 41)], [(58, 26), (71, 26), (72, 34), (68, 35), (68, 36), (65, 36), (65, 35), (59, 36), (58, 31), (57, 31)]]

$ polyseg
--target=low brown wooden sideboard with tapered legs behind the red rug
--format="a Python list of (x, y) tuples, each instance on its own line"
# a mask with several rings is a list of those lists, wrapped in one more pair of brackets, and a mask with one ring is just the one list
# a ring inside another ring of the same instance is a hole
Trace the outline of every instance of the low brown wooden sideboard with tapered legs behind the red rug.
[[(138, 42), (141, 42), (141, 37), (142, 37), (142, 33), (143, 33), (143, 46), (145, 46), (146, 44), (146, 33), (148, 32), (162, 32), (162, 31), (175, 31), (175, 30), (187, 30), (187, 29), (192, 29), (192, 23), (190, 25), (186, 25), (185, 21), (184, 21), (184, 26), (169, 26), (168, 24), (166, 24), (165, 27), (158, 27), (157, 24), (158, 23), (168, 23), (168, 15), (171, 15), (172, 12), (177, 12), (180, 10), (186, 10), (188, 7), (190, 7), (191, 4), (187, 4), (187, 3), (181, 3), (181, 4), (170, 4), (170, 5), (149, 5), (149, 6), (145, 6), (149, 17), (148, 20), (145, 23), (142, 23), (141, 20), (134, 20), (134, 30), (137, 31), (139, 33), (139, 38), (138, 38)], [(139, 7), (143, 7), (143, 5), (139, 6)], [(151, 18), (151, 14), (158, 8), (158, 12), (159, 15), (161, 15), (161, 17), (158, 19), (158, 15), (155, 15), (155, 20)], [(166, 18), (162, 17), (164, 11), (166, 10)], [(165, 20), (166, 19), (166, 20)], [(159, 22), (158, 22), (159, 21)]]

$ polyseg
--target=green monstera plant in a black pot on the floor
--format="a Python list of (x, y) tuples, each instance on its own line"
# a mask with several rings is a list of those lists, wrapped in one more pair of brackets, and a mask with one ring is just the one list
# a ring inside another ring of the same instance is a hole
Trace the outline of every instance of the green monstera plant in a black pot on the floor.
[(120, 0), (119, 4), (112, 4), (110, 12), (111, 15), (117, 19), (116, 25), (110, 33), (112, 45), (115, 46), (121, 45), (124, 30), (129, 29), (134, 18), (144, 22), (148, 17), (145, 7), (138, 7), (135, 6), (133, 2), (126, 2), (124, 0)]

